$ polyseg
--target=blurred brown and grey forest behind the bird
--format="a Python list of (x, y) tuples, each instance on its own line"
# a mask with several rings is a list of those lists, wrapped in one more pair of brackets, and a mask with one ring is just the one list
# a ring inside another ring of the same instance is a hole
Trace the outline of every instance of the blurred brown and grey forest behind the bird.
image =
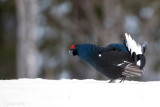
[(148, 41), (142, 81), (160, 80), (160, 0), (0, 0), (0, 79), (107, 79), (72, 44)]

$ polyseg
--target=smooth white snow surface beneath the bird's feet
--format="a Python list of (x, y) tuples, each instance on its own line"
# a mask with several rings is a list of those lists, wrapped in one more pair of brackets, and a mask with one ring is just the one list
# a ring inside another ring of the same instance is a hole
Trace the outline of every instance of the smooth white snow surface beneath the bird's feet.
[(158, 107), (160, 82), (0, 80), (0, 107)]

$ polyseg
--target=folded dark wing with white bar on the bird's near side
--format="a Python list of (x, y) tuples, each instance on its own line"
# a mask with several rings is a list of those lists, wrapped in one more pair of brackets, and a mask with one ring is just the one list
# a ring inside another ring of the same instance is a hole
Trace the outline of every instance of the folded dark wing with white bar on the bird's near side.
[[(126, 77), (141, 76), (144, 72), (143, 69), (133, 62), (132, 57), (127, 52), (122, 51), (108, 51), (101, 53), (99, 58), (103, 66), (113, 67), (111, 69), (121, 68), (122, 75)], [(115, 69), (116, 70), (116, 69)]]

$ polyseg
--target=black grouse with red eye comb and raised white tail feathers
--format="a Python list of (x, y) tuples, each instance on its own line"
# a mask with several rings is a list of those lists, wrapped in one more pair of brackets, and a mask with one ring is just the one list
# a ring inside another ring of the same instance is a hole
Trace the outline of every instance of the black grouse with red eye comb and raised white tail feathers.
[(123, 43), (111, 43), (104, 47), (91, 43), (76, 44), (70, 47), (69, 53), (91, 65), (112, 83), (116, 79), (122, 82), (127, 77), (140, 77), (144, 74), (147, 47), (146, 41), (136, 43), (125, 33)]

